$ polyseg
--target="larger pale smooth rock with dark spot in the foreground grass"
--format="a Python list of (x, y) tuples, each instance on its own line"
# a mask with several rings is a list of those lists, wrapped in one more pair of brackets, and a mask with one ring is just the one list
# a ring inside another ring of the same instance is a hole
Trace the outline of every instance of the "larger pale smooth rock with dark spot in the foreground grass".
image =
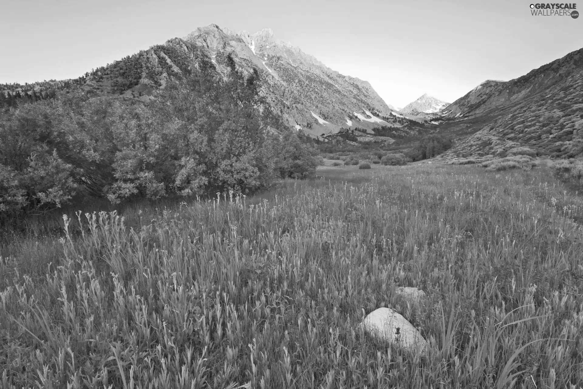
[(409, 351), (426, 353), (425, 338), (409, 321), (390, 308), (379, 308), (364, 318), (359, 327), (375, 338), (380, 338)]

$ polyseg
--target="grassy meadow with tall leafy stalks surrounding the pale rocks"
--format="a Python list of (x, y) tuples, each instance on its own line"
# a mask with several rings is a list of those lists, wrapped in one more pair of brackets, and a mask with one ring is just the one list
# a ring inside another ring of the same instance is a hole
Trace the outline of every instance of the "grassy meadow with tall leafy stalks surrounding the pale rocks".
[[(4, 247), (0, 386), (583, 387), (583, 199), (546, 167), (317, 175)], [(427, 356), (356, 330), (379, 307)]]

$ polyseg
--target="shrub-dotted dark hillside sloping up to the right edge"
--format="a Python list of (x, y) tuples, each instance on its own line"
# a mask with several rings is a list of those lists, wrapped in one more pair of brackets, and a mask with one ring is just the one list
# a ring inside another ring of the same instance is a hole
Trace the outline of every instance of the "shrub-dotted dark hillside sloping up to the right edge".
[(487, 80), (442, 112), (440, 131), (458, 134), (450, 156), (551, 157), (583, 151), (583, 48), (507, 82)]

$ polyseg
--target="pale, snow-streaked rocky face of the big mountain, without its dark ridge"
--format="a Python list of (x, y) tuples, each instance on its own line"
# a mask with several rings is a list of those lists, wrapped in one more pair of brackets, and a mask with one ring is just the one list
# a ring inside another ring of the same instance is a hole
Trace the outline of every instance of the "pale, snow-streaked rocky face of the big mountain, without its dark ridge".
[(245, 71), (260, 69), (266, 84), (262, 93), (275, 111), (291, 127), (312, 135), (338, 132), (341, 127), (378, 127), (380, 116), (395, 110), (367, 81), (333, 71), (276, 38), (271, 29), (250, 34), (211, 24), (182, 39), (215, 59), (230, 53)]

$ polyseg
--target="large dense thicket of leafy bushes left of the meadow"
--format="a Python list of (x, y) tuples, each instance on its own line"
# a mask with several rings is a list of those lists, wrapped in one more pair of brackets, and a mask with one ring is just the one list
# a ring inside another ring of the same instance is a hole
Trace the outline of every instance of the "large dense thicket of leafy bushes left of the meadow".
[(0, 122), (0, 213), (42, 212), (78, 196), (136, 197), (250, 193), (274, 177), (306, 177), (317, 162), (277, 122), (229, 58), (169, 82), (149, 102), (80, 91), (21, 104)]

